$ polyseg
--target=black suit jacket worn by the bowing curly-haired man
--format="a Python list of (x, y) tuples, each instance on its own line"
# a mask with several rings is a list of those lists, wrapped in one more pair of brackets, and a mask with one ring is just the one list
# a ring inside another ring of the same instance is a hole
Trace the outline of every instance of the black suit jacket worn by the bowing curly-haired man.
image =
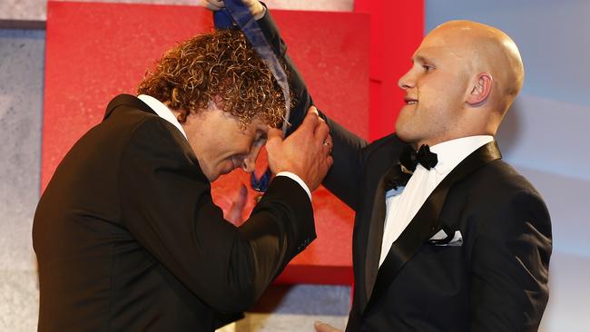
[(120, 95), (35, 212), (39, 331), (212, 331), (314, 238), (310, 199), (287, 177), (242, 227), (223, 220), (182, 133)]

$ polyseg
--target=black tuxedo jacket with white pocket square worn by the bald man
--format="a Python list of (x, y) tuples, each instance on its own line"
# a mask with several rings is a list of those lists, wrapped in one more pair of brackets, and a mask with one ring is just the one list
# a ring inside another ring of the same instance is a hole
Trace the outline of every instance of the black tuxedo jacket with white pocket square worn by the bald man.
[[(310, 94), (276, 26), (264, 22), (267, 39), (290, 66), (296, 127), (312, 104)], [(385, 180), (405, 143), (391, 134), (368, 144), (321, 116), (334, 142), (334, 165), (323, 184), (356, 211), (347, 331), (537, 329), (548, 298), (549, 214), (533, 186), (501, 161), (495, 142), (447, 175), (379, 269)], [(451, 236), (460, 231), (462, 245), (429, 241), (441, 229)]]

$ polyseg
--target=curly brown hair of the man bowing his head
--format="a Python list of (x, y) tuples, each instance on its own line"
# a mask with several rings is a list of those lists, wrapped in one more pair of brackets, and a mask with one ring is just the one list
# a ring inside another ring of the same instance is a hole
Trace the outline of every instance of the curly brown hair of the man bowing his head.
[[(282, 67), (289, 75), (284, 63)], [(233, 29), (178, 44), (145, 74), (137, 92), (180, 112), (181, 123), (189, 112), (206, 109), (210, 102), (236, 116), (242, 128), (257, 117), (279, 127), (285, 115), (280, 85), (246, 36)]]

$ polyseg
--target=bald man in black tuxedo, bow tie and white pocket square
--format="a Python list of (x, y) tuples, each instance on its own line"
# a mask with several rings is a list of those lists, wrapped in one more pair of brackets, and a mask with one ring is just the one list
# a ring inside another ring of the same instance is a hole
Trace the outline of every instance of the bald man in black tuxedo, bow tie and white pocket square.
[(324, 185), (357, 212), (346, 330), (536, 331), (551, 223), (494, 139), (523, 84), (516, 44), (453, 21), (412, 63), (398, 82), (396, 133), (368, 144), (326, 118), (334, 166)]

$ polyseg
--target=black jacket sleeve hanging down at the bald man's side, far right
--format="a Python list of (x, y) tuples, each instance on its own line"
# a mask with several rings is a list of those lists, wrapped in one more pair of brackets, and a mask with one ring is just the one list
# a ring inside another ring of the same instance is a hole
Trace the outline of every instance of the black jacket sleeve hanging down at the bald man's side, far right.
[(536, 331), (548, 299), (549, 214), (526, 190), (495, 206), (471, 251), (470, 330)]

